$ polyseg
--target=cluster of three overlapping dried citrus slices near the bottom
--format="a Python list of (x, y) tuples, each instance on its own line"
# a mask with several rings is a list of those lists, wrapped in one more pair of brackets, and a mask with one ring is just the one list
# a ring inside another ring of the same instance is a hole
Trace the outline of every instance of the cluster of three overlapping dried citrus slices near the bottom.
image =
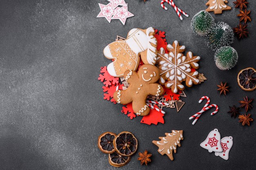
[(127, 131), (118, 135), (112, 132), (102, 133), (98, 138), (101, 152), (108, 154), (108, 162), (115, 167), (125, 166), (138, 148), (136, 137)]

